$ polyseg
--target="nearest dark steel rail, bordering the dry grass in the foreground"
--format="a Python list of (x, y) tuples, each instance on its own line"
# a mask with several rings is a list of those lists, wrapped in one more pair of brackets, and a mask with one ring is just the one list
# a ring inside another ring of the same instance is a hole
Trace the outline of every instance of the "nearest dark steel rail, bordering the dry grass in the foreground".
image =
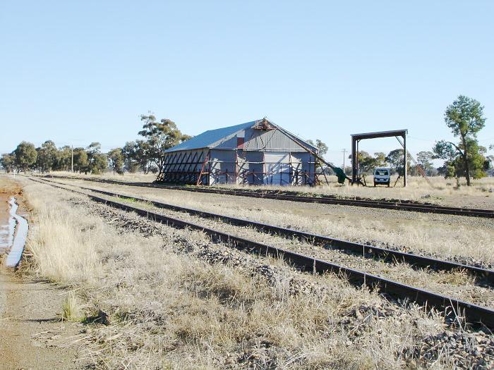
[[(440, 295), (435, 292), (430, 292), (428, 290), (424, 290), (421, 288), (415, 288), (411, 285), (398, 283), (397, 281), (390, 280), (387, 278), (382, 278), (380, 276), (375, 276), (370, 273), (358, 271), (356, 269), (349, 269), (344, 266), (333, 264), (329, 261), (323, 261), (322, 259), (309, 257), (296, 252), (291, 252), (286, 249), (272, 247), (270, 245), (266, 245), (260, 242), (247, 240), (245, 238), (241, 238), (236, 235), (223, 233), (221, 231), (214, 230), (212, 228), (201, 226), (197, 223), (183, 221), (180, 220), (179, 218), (164, 216), (162, 214), (157, 214), (152, 211), (140, 209), (138, 207), (131, 206), (129, 204), (115, 202), (110, 199), (105, 199), (102, 197), (97, 197), (95, 195), (90, 195), (86, 192), (81, 192), (79, 190), (74, 190), (61, 186), (59, 183), (57, 185), (56, 183), (49, 182), (47, 180), (38, 180), (33, 178), (31, 178), (31, 180), (37, 183), (50, 185), (52, 187), (60, 188), (70, 192), (75, 192), (80, 195), (85, 195), (92, 201), (99, 202), (102, 204), (107, 204), (108, 206), (112, 206), (116, 209), (122, 209), (124, 211), (132, 211), (140, 216), (149, 218), (152, 221), (164, 223), (166, 225), (173, 226), (176, 228), (191, 228), (194, 230), (200, 230), (206, 235), (208, 235), (210, 238), (212, 238), (212, 240), (221, 241), (227, 245), (231, 245), (232, 247), (246, 250), (248, 252), (255, 252), (258, 254), (281, 258), (284, 261), (287, 261), (289, 264), (294, 264), (302, 271), (312, 271), (313, 273), (332, 272), (337, 274), (344, 274), (345, 276), (347, 276), (349, 282), (354, 283), (355, 285), (363, 284), (370, 288), (378, 289), (381, 293), (385, 295), (390, 295), (391, 297), (396, 297), (400, 300), (411, 300), (425, 307), (429, 307), (429, 308), (434, 307), (436, 309), (444, 310), (445, 315), (449, 316), (452, 320), (456, 320), (458, 317), (463, 317), (466, 322), (472, 324), (480, 323), (481, 325), (487, 326), (490, 329), (494, 329), (494, 310), (488, 309), (486, 307), (478, 306), (477, 304), (471, 304), (469, 302), (457, 300), (452, 297)], [(66, 186), (73, 186), (73, 185), (66, 185)], [(100, 192), (102, 192), (102, 190), (100, 190)], [(110, 194), (114, 194), (114, 193), (110, 193)], [(133, 199), (136, 198), (133, 197)], [(145, 202), (149, 202), (149, 200), (147, 199), (144, 200)], [(474, 267), (474, 266), (470, 266), (470, 267)], [(478, 268), (474, 267), (474, 269), (478, 269)], [(492, 271), (490, 272), (492, 273)]]

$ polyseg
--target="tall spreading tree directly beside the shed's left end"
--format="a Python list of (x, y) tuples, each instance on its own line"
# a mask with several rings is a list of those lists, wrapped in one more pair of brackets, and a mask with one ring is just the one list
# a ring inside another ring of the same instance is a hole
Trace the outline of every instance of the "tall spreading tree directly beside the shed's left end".
[[(158, 168), (157, 178), (161, 178), (164, 166), (164, 151), (174, 147), (181, 142), (188, 140), (190, 136), (183, 135), (174, 121), (162, 119), (157, 122), (156, 117), (152, 114), (149, 116), (140, 116), (140, 121), (144, 122), (143, 130), (139, 135), (145, 137), (146, 146), (143, 148), (143, 156), (150, 164), (155, 164)], [(149, 165), (146, 165), (149, 170)]]

